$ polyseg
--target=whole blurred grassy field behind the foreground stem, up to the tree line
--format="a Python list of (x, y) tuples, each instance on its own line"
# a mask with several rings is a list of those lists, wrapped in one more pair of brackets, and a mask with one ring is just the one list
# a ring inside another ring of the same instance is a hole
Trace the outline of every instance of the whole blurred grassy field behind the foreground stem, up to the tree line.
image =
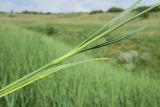
[[(134, 14), (134, 13), (133, 13)], [(117, 14), (0, 14), (0, 87), (57, 58)], [(0, 107), (159, 107), (160, 13), (100, 41), (147, 24), (154, 28), (72, 61), (111, 57), (55, 73), (4, 98)]]

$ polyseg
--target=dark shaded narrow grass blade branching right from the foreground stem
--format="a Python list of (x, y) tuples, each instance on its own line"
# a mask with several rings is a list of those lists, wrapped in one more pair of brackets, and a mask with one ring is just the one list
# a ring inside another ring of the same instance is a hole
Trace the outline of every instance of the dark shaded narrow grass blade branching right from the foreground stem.
[(139, 28), (139, 29), (137, 29), (137, 30), (135, 30), (135, 31), (133, 31), (133, 32), (125, 35), (125, 36), (122, 36), (121, 38), (117, 38), (117, 39), (113, 39), (113, 40), (111, 40), (111, 41), (107, 41), (107, 42), (105, 42), (105, 43), (101, 43), (101, 44), (96, 45), (96, 46), (93, 46), (93, 47), (91, 47), (91, 48), (84, 49), (84, 50), (82, 50), (82, 51), (80, 51), (80, 52), (85, 52), (85, 51), (89, 51), (89, 50), (92, 50), (92, 49), (102, 48), (102, 47), (104, 47), (104, 46), (107, 46), (107, 45), (111, 45), (111, 44), (120, 42), (120, 41), (122, 41), (122, 40), (124, 40), (124, 39), (127, 39), (127, 38), (131, 37), (132, 35), (134, 35), (134, 34), (136, 34), (136, 33), (138, 33), (138, 32), (141, 32), (141, 31), (143, 31), (143, 30), (145, 30), (145, 29), (147, 29), (147, 28), (149, 28), (149, 26), (141, 27), (141, 28)]

